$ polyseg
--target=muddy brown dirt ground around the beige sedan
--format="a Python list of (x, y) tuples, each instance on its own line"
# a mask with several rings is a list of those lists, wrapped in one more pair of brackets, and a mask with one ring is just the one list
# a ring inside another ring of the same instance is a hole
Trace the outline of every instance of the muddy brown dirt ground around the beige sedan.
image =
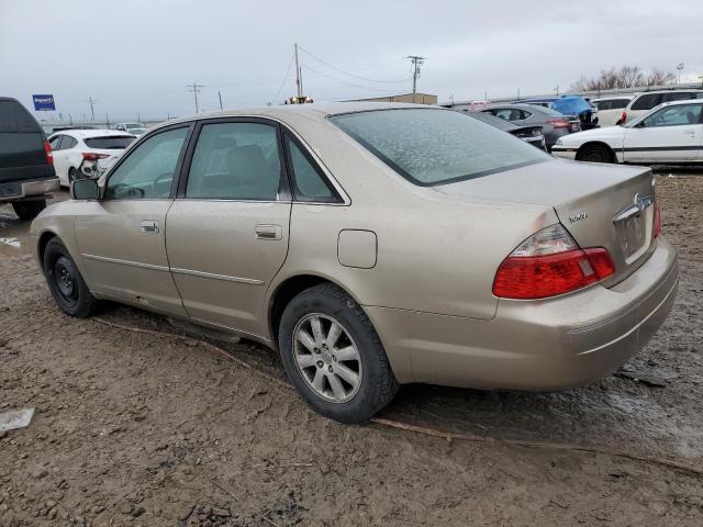
[[(703, 470), (703, 173), (663, 170), (657, 189), (681, 288), (624, 371), (550, 394), (404, 386), (382, 414), (479, 441), (324, 419), (250, 343), (219, 343), (249, 369), (64, 316), (26, 224), (0, 206), (0, 412), (36, 408), (0, 434), (0, 526), (703, 525), (703, 475), (654, 461)], [(126, 307), (100, 316), (181, 333)]]

